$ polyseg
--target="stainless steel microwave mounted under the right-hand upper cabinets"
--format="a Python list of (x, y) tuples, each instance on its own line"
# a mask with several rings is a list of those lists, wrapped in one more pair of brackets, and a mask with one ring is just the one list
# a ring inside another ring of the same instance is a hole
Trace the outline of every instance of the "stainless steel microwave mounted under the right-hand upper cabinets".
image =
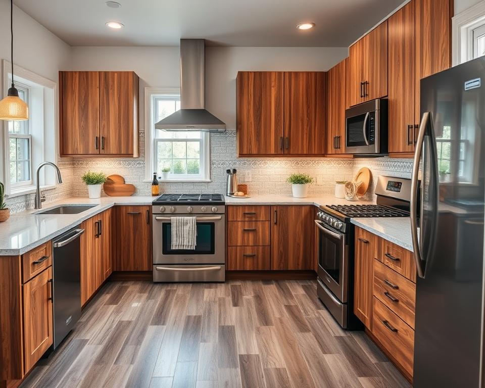
[(387, 154), (387, 100), (368, 101), (345, 111), (345, 151)]

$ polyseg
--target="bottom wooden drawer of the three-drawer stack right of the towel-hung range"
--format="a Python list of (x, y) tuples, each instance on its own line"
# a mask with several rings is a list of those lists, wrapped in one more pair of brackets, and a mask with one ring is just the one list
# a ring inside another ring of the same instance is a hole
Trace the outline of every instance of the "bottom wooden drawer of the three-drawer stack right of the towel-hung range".
[(229, 271), (261, 271), (270, 269), (269, 247), (229, 247), (227, 269)]

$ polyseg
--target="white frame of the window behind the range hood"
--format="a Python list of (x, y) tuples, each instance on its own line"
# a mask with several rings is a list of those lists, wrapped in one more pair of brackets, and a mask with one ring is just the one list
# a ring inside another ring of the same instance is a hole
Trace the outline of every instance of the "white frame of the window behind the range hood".
[[(157, 143), (161, 141), (174, 141), (172, 139), (163, 139), (156, 137), (155, 129), (155, 110), (154, 98), (157, 95), (180, 95), (180, 88), (178, 87), (146, 87), (144, 93), (145, 104), (145, 181), (151, 182), (153, 179), (153, 172), (157, 171), (156, 147)], [(162, 180), (165, 182), (210, 182), (210, 135), (208, 132), (201, 132), (200, 138), (194, 139), (180, 139), (181, 141), (196, 140), (201, 142), (201, 174), (199, 177), (194, 177), (188, 174), (170, 174), (169, 178)]]

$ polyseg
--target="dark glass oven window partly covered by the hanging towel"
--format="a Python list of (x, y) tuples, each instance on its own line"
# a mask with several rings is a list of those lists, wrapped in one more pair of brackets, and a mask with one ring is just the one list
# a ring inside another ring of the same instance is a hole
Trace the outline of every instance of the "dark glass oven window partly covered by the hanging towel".
[(195, 250), (172, 250), (172, 225), (169, 222), (162, 224), (162, 253), (164, 255), (214, 255), (215, 224), (214, 222), (197, 223), (197, 245)]

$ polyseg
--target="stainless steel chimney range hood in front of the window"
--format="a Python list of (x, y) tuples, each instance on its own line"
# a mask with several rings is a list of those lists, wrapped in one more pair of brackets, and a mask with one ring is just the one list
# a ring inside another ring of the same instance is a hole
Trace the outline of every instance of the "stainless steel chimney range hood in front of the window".
[(155, 124), (164, 131), (225, 132), (226, 124), (205, 109), (204, 39), (180, 39), (180, 107)]

